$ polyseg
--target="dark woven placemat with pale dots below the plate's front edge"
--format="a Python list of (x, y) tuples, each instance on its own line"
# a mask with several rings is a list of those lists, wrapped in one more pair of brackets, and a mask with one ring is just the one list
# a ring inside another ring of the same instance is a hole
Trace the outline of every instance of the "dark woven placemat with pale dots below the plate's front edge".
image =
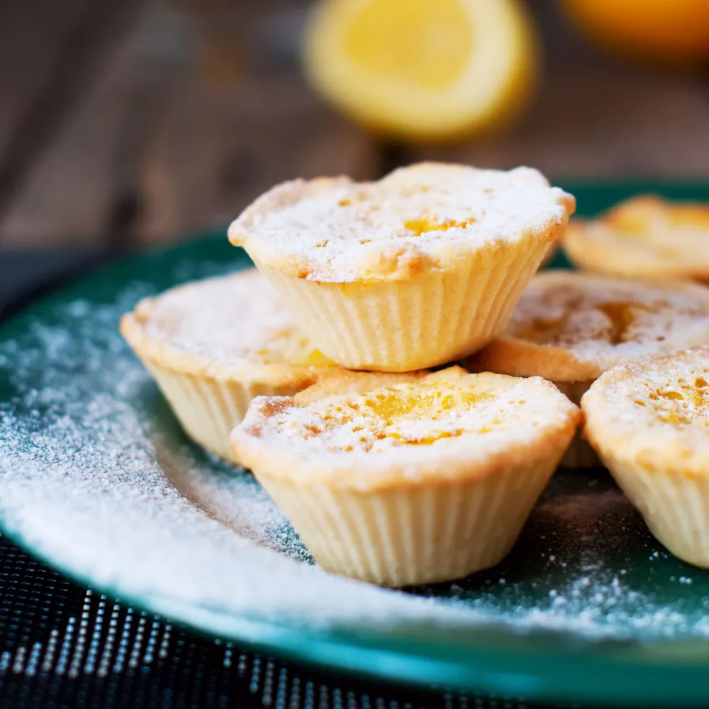
[(0, 537), (3, 709), (464, 709), (469, 704), (474, 700), (363, 683), (194, 635), (79, 588)]

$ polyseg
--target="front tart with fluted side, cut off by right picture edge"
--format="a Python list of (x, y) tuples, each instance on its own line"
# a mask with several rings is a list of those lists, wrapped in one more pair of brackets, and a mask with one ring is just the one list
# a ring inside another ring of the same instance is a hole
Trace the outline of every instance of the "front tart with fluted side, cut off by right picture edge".
[(709, 567), (709, 348), (615, 367), (584, 394), (585, 435), (673, 554)]

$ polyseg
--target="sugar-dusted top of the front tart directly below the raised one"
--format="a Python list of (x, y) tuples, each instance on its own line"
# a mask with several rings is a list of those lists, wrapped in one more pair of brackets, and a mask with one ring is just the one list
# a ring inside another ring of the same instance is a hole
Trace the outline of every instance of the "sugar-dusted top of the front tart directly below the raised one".
[(465, 374), (452, 367), (413, 383), (328, 396), (308, 406), (288, 397), (257, 398), (242, 430), (286, 445), (296, 456), (357, 459), (366, 474), (386, 456), (414, 463), (446, 448), (485, 456), (533, 445), (565, 428), (575, 411), (539, 377)]

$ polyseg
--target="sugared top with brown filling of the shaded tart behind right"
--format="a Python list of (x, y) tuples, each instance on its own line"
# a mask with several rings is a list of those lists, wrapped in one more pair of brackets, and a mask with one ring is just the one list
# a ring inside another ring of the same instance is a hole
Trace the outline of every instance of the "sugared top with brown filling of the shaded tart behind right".
[(603, 371), (709, 342), (709, 290), (547, 272), (527, 286), (505, 334), (564, 347)]

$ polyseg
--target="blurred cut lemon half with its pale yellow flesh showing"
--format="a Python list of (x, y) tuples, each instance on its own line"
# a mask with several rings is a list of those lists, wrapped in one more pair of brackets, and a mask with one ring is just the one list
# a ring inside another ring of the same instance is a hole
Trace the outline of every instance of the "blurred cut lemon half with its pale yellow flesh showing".
[(355, 121), (445, 140), (518, 113), (535, 84), (536, 46), (515, 0), (320, 0), (303, 60), (313, 86)]

